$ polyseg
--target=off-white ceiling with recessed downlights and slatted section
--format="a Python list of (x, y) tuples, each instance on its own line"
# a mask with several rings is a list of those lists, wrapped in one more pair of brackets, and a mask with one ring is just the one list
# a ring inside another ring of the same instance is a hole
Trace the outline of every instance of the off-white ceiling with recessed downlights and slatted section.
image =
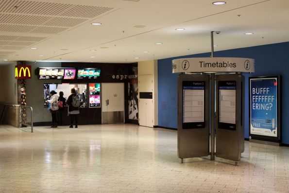
[(132, 63), (205, 53), (211, 31), (221, 32), (215, 51), (289, 41), (289, 0), (214, 1), (0, 0), (0, 63)]

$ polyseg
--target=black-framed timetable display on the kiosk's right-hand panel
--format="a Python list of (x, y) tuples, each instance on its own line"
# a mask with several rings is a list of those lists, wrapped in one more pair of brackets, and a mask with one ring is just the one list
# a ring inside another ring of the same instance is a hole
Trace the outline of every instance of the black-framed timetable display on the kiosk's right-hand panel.
[(219, 128), (236, 130), (236, 81), (219, 81)]

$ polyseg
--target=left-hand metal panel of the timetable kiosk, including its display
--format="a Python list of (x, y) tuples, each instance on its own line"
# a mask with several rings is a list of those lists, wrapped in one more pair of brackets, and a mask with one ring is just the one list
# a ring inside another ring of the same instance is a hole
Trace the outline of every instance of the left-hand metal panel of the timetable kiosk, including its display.
[(178, 76), (178, 157), (209, 154), (209, 75)]

